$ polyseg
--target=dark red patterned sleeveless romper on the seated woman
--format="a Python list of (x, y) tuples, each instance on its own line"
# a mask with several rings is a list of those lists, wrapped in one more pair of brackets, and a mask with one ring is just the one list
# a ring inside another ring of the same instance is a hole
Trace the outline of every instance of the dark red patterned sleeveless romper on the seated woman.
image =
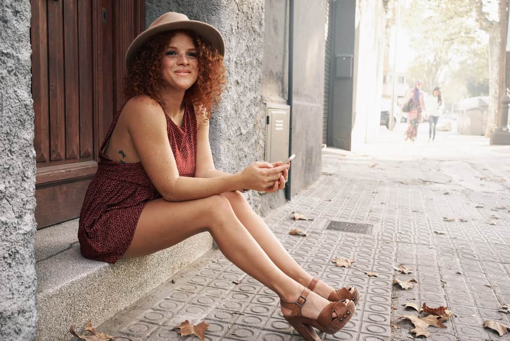
[[(98, 171), (85, 194), (78, 229), (82, 255), (108, 263), (118, 261), (128, 249), (145, 204), (161, 198), (140, 162), (121, 164), (103, 154), (121, 111), (113, 118), (101, 146)], [(165, 117), (179, 175), (195, 176), (197, 120), (192, 106), (184, 110), (182, 128), (166, 112)]]

